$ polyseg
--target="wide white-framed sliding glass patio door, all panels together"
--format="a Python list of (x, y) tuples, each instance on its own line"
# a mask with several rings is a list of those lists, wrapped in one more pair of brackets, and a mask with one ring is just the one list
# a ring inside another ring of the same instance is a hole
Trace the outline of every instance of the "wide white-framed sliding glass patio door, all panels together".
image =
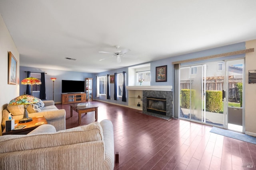
[(183, 66), (180, 68), (180, 115), (244, 132), (244, 59)]

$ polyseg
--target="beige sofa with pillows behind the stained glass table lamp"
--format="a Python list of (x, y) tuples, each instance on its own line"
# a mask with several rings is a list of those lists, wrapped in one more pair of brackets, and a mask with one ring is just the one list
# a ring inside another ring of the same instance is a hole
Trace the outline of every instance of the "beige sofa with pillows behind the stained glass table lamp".
[[(30, 104), (27, 108), (28, 117), (44, 116), (48, 124), (53, 125), (56, 131), (66, 129), (66, 111), (65, 109), (58, 109), (53, 100), (42, 101), (38, 99), (37, 104)], [(24, 106), (23, 105), (8, 105), (7, 108), (2, 111), (2, 119), (0, 117), (0, 122), (2, 126), (0, 129), (2, 132), (5, 128), (5, 122), (8, 120), (9, 113), (12, 114), (12, 118), (19, 120), (23, 118)], [(1, 133), (2, 134), (2, 133)]]

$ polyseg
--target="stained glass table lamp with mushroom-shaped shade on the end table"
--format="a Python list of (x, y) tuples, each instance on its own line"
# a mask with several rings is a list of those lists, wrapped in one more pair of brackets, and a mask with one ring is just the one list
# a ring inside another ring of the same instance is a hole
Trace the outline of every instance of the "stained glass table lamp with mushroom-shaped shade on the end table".
[(9, 103), (9, 105), (24, 105), (24, 114), (23, 114), (23, 118), (19, 120), (20, 123), (26, 123), (29, 121), (32, 121), (31, 117), (28, 117), (28, 111), (27, 111), (27, 107), (29, 104), (34, 104), (37, 103), (38, 100), (37, 98), (35, 98), (34, 96), (30, 96), (27, 94), (24, 94), (22, 96), (18, 96), (14, 99), (12, 99)]

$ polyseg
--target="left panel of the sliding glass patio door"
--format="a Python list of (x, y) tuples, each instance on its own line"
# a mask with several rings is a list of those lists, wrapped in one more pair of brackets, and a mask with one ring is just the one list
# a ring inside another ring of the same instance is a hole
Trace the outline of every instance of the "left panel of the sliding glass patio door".
[(205, 123), (205, 64), (180, 68), (180, 118)]

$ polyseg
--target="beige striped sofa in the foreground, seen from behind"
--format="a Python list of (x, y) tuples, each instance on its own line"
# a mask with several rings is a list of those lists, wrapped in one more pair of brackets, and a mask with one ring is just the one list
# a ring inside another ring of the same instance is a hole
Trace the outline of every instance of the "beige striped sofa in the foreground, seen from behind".
[(0, 137), (4, 170), (113, 170), (114, 133), (110, 120), (56, 132), (40, 125), (27, 135)]

